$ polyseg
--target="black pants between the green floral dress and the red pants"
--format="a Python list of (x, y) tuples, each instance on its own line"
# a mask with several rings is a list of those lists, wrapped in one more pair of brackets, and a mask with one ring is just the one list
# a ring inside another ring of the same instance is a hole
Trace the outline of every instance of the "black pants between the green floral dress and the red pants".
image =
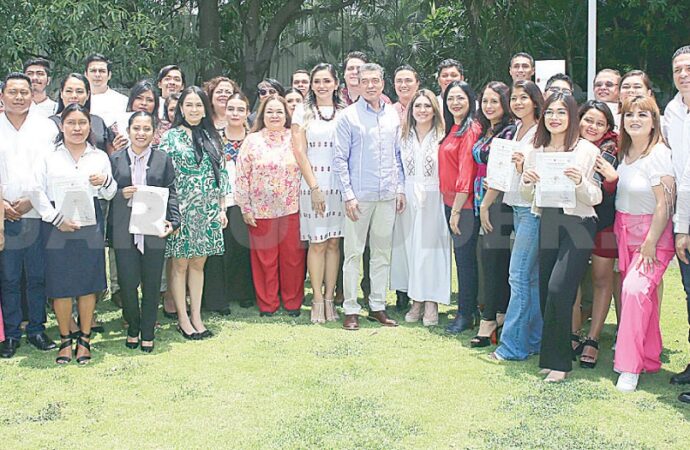
[(239, 206), (228, 208), (227, 216), (228, 226), (223, 230), (225, 252), (209, 256), (204, 266), (202, 305), (208, 311), (228, 309), (230, 300), (256, 301), (247, 225)]

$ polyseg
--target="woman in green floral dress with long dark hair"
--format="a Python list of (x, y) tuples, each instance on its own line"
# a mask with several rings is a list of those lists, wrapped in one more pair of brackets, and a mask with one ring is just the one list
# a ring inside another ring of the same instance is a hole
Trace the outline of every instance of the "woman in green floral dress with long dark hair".
[[(175, 185), (182, 216), (179, 232), (171, 235), (165, 256), (171, 258), (169, 281), (177, 308), (178, 331), (187, 339), (213, 334), (201, 319), (201, 296), (206, 257), (223, 253), (223, 228), (227, 226), (225, 196), (230, 184), (222, 146), (206, 94), (196, 86), (182, 91), (172, 128), (160, 148), (175, 166)], [(185, 307), (189, 287), (191, 317)]]

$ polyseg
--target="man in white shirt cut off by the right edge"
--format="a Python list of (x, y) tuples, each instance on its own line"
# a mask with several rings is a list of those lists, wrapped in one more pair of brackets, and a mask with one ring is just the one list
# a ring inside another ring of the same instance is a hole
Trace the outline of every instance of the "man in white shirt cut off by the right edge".
[[(673, 228), (690, 324), (690, 45), (676, 50), (672, 65), (673, 83), (678, 93), (666, 105), (662, 129), (666, 142), (671, 147), (676, 176), (678, 200)], [(690, 384), (690, 364), (683, 372), (671, 377), (671, 384)], [(678, 399), (690, 403), (690, 392), (682, 393)]]

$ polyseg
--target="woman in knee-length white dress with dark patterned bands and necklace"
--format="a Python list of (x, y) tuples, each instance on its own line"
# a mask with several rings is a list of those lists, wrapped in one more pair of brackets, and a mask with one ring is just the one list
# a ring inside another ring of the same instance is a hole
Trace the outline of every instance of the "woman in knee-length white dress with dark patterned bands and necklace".
[(311, 321), (338, 320), (333, 302), (340, 238), (343, 236), (343, 202), (340, 182), (331, 170), (336, 115), (345, 104), (338, 93), (338, 76), (332, 64), (317, 64), (310, 73), (305, 103), (292, 116), (295, 158), (302, 171), (300, 235), (309, 241), (307, 270), (314, 290)]

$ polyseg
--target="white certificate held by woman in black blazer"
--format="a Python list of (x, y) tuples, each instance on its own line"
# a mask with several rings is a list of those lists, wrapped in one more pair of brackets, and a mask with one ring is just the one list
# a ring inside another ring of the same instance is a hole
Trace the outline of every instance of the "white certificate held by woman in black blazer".
[(132, 196), (129, 232), (150, 236), (163, 234), (169, 196), (168, 188), (137, 186), (137, 191)]

